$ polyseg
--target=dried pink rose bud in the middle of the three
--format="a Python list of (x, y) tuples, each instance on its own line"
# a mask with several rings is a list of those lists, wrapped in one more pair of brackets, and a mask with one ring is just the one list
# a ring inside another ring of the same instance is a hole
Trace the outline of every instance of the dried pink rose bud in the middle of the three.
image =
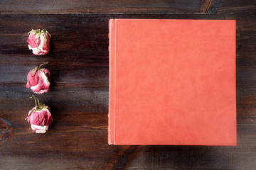
[[(43, 64), (47, 64), (43, 63)], [(28, 82), (26, 88), (30, 88), (36, 94), (43, 94), (49, 91), (50, 86), (50, 72), (48, 69), (41, 69), (40, 67), (35, 67), (28, 72)]]

